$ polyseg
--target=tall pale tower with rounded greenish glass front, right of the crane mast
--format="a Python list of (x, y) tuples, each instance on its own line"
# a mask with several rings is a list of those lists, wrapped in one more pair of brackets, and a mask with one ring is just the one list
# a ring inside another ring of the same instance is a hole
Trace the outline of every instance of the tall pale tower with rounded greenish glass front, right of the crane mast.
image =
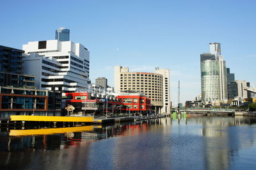
[(204, 102), (226, 102), (226, 62), (221, 56), (220, 43), (209, 45), (211, 53), (200, 55), (202, 100)]

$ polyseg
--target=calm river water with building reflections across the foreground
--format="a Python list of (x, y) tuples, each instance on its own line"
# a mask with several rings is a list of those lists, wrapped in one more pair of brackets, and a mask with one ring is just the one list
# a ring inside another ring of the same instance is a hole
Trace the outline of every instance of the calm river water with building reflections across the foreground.
[(161, 118), (0, 134), (0, 169), (256, 167), (256, 119), (250, 117)]

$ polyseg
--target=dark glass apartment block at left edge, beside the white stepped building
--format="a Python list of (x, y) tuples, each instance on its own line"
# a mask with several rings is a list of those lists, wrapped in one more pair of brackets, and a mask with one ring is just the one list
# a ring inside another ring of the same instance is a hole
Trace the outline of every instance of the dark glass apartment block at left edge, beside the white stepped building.
[(35, 76), (24, 75), (24, 51), (0, 45), (0, 86), (35, 89)]

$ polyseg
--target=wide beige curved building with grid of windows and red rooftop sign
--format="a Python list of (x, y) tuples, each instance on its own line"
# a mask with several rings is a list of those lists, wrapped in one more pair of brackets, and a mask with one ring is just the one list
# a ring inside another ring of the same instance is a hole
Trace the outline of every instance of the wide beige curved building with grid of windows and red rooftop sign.
[(115, 66), (115, 92), (138, 92), (151, 99), (152, 109), (170, 113), (170, 70), (156, 68), (154, 73), (129, 72), (128, 67)]

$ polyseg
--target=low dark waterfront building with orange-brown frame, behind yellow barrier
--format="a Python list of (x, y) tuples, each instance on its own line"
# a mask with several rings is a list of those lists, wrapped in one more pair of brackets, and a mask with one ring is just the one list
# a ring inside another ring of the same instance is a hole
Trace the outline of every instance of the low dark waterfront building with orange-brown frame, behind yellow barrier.
[(61, 93), (0, 86), (0, 119), (11, 115), (61, 116)]

